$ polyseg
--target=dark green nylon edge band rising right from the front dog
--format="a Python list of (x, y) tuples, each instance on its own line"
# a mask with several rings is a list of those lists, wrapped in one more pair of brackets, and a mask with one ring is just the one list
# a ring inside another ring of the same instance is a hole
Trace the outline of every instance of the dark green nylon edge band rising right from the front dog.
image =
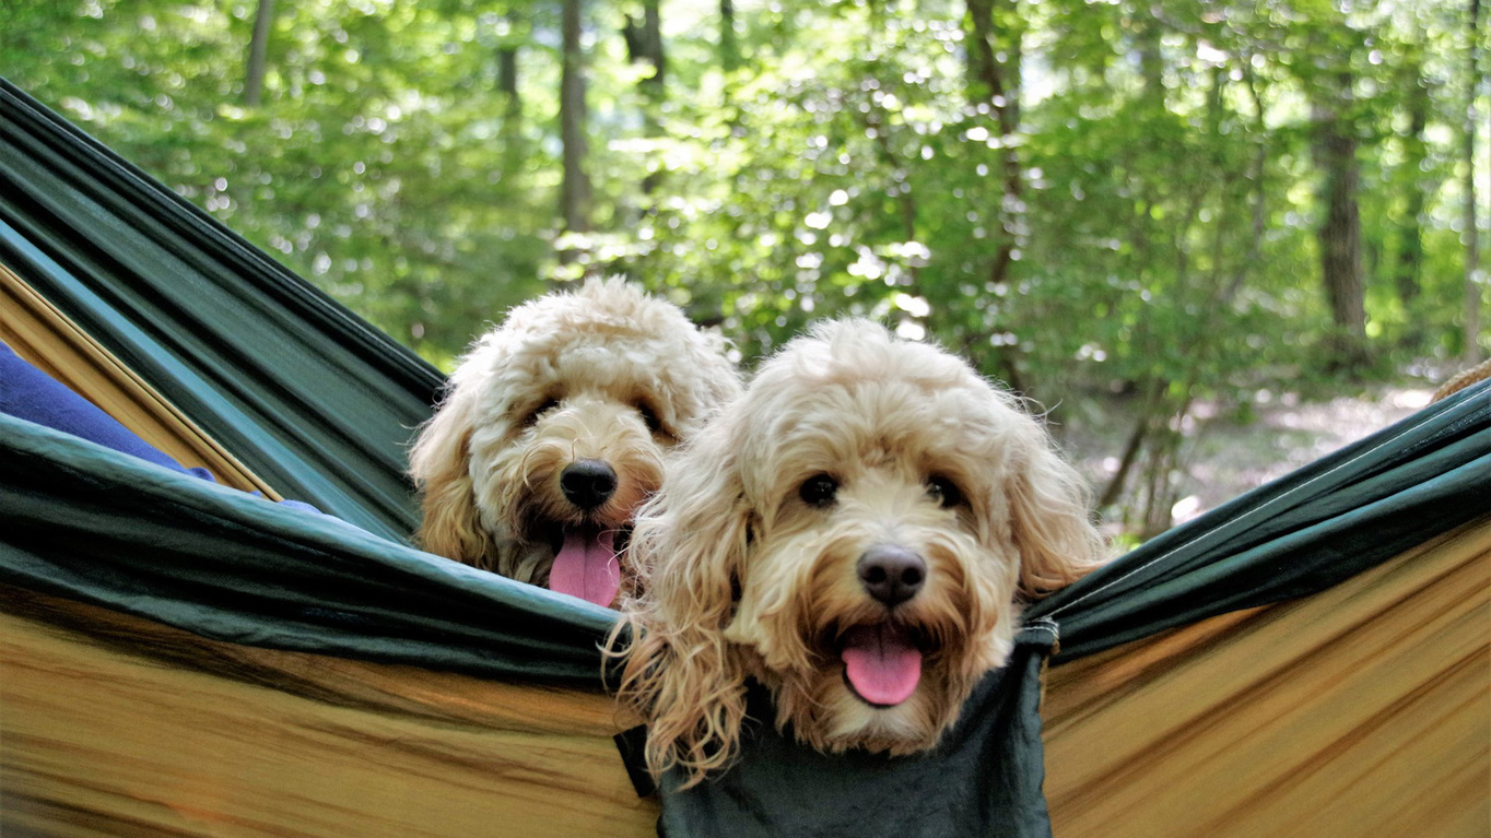
[(1215, 614), (1324, 590), (1491, 511), (1487, 383), (1254, 489), (1029, 610), (1054, 665)]

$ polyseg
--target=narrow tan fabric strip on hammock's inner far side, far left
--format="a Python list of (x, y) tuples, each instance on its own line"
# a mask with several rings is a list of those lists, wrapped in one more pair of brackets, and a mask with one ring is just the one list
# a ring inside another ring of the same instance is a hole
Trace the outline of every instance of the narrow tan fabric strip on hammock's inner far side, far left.
[(264, 480), (3, 264), (0, 341), (176, 462), (203, 467), (219, 483), (236, 489), (280, 500)]

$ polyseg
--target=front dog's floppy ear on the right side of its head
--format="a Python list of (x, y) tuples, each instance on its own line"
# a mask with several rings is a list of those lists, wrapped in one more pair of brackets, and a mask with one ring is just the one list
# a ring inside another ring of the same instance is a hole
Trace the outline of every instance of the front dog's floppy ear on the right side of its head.
[(1005, 492), (1020, 550), (1020, 592), (1039, 598), (1102, 565), (1105, 547), (1090, 517), (1087, 482), (1057, 455), (1035, 419), (1026, 422)]

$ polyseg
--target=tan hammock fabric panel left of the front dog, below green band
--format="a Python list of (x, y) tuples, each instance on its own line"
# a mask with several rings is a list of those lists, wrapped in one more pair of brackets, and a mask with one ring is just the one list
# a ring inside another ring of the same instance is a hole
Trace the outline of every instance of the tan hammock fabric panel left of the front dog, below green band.
[(0, 586), (0, 835), (650, 835), (599, 695), (213, 643)]

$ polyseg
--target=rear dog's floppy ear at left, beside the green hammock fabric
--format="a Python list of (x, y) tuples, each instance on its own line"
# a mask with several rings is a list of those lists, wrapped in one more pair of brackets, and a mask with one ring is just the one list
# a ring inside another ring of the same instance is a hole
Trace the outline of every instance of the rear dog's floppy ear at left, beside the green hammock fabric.
[(471, 491), (471, 418), (476, 398), (456, 388), (419, 428), (409, 452), (409, 473), (422, 494), (422, 520), (414, 538), (431, 552), (494, 570), (497, 546), (482, 526)]

